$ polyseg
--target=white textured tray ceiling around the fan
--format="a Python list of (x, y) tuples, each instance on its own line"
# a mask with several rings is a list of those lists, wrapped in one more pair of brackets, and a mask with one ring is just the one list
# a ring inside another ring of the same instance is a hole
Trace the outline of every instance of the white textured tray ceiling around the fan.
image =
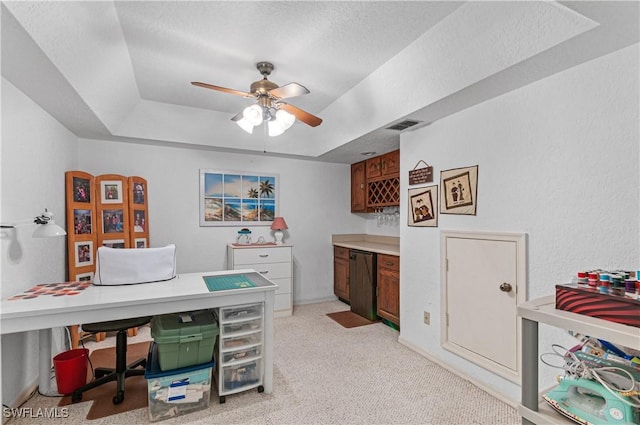
[[(2, 75), (82, 138), (353, 163), (429, 123), (638, 42), (637, 2), (3, 2)], [(323, 118), (248, 135), (261, 78)], [(419, 126), (420, 126), (419, 125)]]

